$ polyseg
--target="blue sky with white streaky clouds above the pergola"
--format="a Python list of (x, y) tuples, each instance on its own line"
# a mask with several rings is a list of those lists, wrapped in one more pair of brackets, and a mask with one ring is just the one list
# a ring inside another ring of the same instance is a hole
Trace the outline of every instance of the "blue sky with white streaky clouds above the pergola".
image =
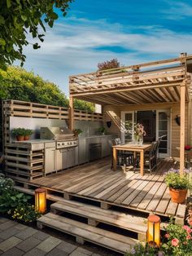
[(191, 0), (76, 0), (47, 29), (41, 49), (25, 49), (24, 68), (68, 95), (68, 76), (95, 71), (98, 62), (139, 64), (180, 52), (192, 54)]

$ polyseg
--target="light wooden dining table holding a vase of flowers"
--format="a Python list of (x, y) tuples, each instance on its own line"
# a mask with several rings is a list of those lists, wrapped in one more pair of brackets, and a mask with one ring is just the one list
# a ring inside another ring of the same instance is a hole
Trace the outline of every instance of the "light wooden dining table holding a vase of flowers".
[(134, 144), (134, 143), (127, 143), (127, 144), (120, 144), (112, 146), (113, 148), (113, 170), (116, 170), (117, 167), (117, 151), (123, 150), (123, 151), (129, 151), (134, 153), (134, 157), (136, 157), (136, 153), (140, 153), (140, 174), (144, 175), (144, 153), (146, 151), (149, 151), (151, 148), (151, 144)]

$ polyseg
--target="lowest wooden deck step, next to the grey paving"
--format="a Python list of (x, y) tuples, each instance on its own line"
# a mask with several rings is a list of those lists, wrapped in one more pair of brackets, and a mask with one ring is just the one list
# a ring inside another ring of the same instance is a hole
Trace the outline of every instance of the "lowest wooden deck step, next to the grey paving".
[(60, 232), (76, 236), (76, 241), (89, 241), (96, 245), (101, 245), (107, 249), (112, 249), (124, 254), (137, 243), (137, 240), (104, 231), (98, 227), (92, 227), (85, 223), (80, 223), (70, 218), (64, 218), (56, 214), (46, 214), (37, 220), (37, 227), (52, 227)]

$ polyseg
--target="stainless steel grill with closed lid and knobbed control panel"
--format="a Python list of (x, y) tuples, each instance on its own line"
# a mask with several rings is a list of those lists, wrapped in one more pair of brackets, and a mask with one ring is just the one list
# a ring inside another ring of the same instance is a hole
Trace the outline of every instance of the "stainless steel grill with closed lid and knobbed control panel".
[(57, 149), (72, 148), (78, 145), (75, 134), (67, 127), (41, 127), (41, 139), (54, 139)]

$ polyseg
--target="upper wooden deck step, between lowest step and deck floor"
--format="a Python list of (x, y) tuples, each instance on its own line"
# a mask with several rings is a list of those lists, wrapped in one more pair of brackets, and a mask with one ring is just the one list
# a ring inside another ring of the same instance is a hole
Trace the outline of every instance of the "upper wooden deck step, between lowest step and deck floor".
[(98, 223), (107, 223), (136, 232), (139, 240), (141, 240), (141, 236), (146, 236), (146, 218), (133, 216), (132, 214), (124, 214), (115, 210), (103, 210), (97, 206), (67, 200), (58, 201), (50, 205), (50, 209), (55, 214), (68, 212), (87, 218), (88, 223), (92, 226), (97, 226)]

